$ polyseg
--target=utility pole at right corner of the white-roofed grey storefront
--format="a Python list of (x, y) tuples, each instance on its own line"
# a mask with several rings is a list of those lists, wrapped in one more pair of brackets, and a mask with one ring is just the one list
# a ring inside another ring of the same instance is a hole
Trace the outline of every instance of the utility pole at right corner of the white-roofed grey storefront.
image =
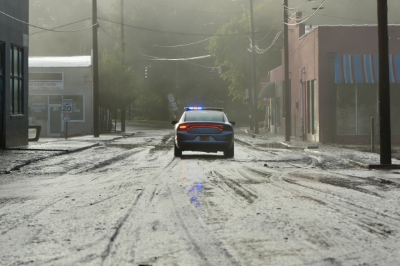
[(93, 137), (99, 133), (99, 45), (97, 43), (97, 0), (92, 0), (93, 30)]

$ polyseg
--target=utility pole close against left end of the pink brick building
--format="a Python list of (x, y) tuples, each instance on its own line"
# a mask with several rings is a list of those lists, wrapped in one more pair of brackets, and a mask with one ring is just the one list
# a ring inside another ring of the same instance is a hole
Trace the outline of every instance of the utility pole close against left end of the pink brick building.
[(292, 133), (292, 103), (290, 102), (290, 94), (292, 93), (290, 89), (289, 82), (289, 34), (288, 34), (288, 0), (283, 0), (283, 54), (285, 57), (285, 140), (290, 142), (290, 135)]

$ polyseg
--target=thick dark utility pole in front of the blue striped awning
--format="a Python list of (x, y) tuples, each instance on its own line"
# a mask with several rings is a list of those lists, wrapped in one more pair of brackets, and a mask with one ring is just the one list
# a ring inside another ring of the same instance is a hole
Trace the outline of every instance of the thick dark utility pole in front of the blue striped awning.
[(381, 142), (381, 164), (392, 164), (392, 144), (390, 139), (388, 0), (377, 0), (377, 3), (379, 41), (379, 139)]

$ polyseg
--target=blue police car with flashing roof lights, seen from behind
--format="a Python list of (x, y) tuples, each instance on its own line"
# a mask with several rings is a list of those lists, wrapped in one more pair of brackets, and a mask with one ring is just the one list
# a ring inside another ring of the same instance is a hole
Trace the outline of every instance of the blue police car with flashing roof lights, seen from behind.
[(183, 151), (217, 153), (234, 156), (233, 126), (223, 113), (223, 108), (185, 107), (179, 121), (172, 121), (174, 129), (174, 156)]

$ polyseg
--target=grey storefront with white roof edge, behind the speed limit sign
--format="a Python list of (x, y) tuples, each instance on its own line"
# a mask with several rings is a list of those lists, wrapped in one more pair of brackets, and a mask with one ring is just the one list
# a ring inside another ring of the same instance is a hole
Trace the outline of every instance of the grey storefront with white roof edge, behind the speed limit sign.
[(68, 135), (92, 133), (91, 56), (29, 58), (29, 108), (43, 137), (61, 137), (62, 100), (72, 100)]

